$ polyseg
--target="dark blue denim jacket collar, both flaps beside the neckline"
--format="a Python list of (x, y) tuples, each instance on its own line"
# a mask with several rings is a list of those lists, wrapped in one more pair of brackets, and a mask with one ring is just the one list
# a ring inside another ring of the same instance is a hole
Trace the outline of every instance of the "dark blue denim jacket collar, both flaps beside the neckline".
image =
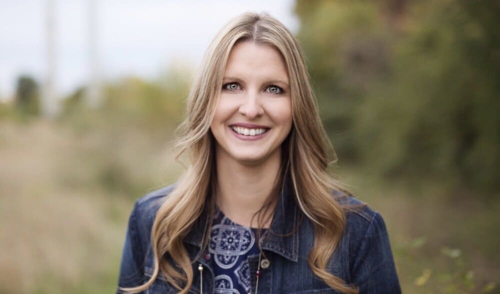
[[(203, 232), (208, 224), (206, 217), (208, 213), (205, 210), (201, 213), (201, 217), (196, 220), (192, 230), (184, 238), (184, 242), (197, 248), (201, 247), (203, 242)], [(298, 261), (298, 232), (299, 210), (293, 200), (293, 189), (289, 176), (285, 176), (283, 180), (283, 188), (281, 189), (274, 216), (271, 225), (264, 235), (261, 243), (262, 250), (274, 252), (290, 261)], [(294, 233), (294, 234), (293, 234)]]

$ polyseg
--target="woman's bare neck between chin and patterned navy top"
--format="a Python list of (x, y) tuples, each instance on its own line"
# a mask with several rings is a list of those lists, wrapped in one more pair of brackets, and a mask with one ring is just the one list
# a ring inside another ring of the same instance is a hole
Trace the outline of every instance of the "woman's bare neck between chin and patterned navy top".
[[(224, 215), (236, 224), (257, 227), (255, 213), (262, 208), (272, 195), (281, 163), (281, 152), (276, 150), (259, 164), (245, 164), (230, 158), (227, 153), (216, 148), (216, 201)], [(274, 204), (271, 204), (274, 205)], [(264, 210), (262, 224), (268, 228), (274, 206)], [(253, 218), (253, 220), (252, 220)]]

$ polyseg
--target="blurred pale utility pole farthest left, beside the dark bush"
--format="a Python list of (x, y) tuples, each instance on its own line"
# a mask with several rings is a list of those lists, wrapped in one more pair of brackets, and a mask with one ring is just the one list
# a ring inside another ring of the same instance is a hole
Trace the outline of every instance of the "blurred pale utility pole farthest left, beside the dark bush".
[(47, 69), (43, 85), (41, 110), (48, 118), (54, 118), (59, 110), (58, 100), (54, 89), (55, 81), (55, 0), (45, 2), (45, 29), (46, 29), (46, 57)]

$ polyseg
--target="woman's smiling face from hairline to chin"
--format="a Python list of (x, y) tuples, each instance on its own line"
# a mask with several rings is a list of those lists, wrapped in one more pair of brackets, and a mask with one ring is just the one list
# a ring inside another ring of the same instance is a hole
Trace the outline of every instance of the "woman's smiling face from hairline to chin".
[(247, 164), (279, 157), (291, 125), (290, 86), (279, 51), (249, 41), (234, 45), (210, 125), (217, 156)]

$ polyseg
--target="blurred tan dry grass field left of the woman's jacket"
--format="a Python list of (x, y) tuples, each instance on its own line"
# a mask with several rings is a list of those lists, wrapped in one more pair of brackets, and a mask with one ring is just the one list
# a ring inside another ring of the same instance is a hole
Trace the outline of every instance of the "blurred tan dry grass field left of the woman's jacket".
[(45, 121), (0, 125), (1, 293), (112, 291), (133, 197), (99, 185), (102, 175), (119, 165), (130, 174), (118, 172), (116, 184), (142, 173), (153, 189), (174, 172), (164, 152), (148, 153), (161, 146), (128, 134), (106, 147), (106, 135)]

